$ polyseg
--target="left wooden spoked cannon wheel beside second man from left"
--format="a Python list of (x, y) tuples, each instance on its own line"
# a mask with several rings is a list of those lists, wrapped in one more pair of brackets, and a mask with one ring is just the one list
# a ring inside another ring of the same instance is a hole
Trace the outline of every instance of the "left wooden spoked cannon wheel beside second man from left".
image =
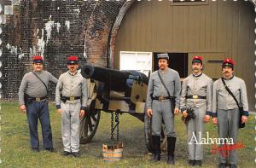
[(84, 118), (80, 120), (79, 136), (81, 144), (89, 143), (91, 141), (96, 133), (101, 117), (101, 111), (95, 109), (96, 84), (95, 82), (90, 81), (90, 79), (86, 79), (86, 81), (89, 99), (87, 105), (88, 109), (86, 110)]

